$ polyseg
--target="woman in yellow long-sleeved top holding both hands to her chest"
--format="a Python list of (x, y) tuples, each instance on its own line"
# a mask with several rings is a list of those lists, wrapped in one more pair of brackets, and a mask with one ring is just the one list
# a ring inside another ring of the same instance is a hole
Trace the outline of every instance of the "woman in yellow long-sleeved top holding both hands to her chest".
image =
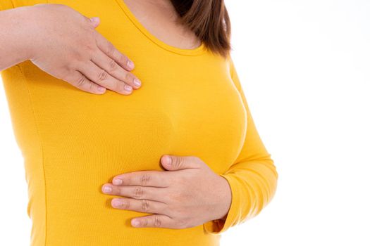
[(273, 198), (223, 1), (1, 7), (32, 246), (218, 245)]

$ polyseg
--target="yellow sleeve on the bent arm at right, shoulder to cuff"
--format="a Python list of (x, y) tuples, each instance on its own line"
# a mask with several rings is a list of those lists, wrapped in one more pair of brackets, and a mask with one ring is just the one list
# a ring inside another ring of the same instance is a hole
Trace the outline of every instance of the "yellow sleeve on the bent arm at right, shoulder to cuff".
[(247, 133), (235, 163), (226, 173), (220, 174), (230, 185), (232, 201), (228, 214), (223, 219), (207, 221), (204, 224), (204, 230), (211, 234), (223, 233), (231, 226), (242, 224), (257, 216), (275, 195), (278, 180), (271, 154), (266, 150), (254, 125), (231, 58), (230, 75), (247, 111)]

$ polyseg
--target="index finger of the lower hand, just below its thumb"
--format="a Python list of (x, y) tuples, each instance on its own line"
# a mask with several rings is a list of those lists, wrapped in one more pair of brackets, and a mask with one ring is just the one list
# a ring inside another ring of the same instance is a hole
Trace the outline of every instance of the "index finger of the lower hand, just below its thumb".
[(115, 186), (154, 186), (168, 187), (171, 176), (168, 171), (132, 171), (113, 178)]

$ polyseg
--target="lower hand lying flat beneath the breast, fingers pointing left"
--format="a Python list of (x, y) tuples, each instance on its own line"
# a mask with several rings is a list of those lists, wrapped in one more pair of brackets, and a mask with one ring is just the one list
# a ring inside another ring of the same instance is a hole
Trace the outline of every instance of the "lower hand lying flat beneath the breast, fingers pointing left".
[(106, 194), (126, 197), (114, 198), (113, 207), (153, 214), (132, 219), (132, 226), (190, 228), (226, 217), (231, 189), (223, 176), (199, 157), (164, 155), (161, 163), (170, 171), (130, 172), (102, 186)]

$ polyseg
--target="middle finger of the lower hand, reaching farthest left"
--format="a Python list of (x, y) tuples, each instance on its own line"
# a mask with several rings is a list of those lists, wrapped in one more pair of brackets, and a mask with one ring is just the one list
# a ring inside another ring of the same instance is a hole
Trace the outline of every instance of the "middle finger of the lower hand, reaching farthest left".
[[(106, 189), (106, 186), (109, 188)], [(166, 188), (151, 186), (113, 186), (111, 183), (104, 184), (102, 191), (110, 195), (121, 195), (126, 198), (147, 199), (164, 202)]]

